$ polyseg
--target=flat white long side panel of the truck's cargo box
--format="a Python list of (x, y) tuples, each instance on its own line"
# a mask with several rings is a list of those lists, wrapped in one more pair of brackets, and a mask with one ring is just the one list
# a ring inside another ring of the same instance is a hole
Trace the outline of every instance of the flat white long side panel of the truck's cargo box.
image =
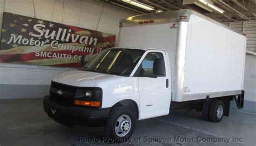
[(244, 35), (194, 14), (188, 23), (183, 101), (240, 94)]

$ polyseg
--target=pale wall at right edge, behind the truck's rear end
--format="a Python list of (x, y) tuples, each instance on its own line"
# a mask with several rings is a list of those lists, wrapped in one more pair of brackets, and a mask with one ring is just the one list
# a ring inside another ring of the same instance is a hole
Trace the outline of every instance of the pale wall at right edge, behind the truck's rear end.
[[(243, 32), (247, 36), (246, 49), (256, 52), (256, 20), (226, 23), (234, 30)], [(245, 59), (245, 105), (242, 111), (256, 113), (256, 56), (246, 55)], [(235, 104), (233, 109), (237, 109)]]

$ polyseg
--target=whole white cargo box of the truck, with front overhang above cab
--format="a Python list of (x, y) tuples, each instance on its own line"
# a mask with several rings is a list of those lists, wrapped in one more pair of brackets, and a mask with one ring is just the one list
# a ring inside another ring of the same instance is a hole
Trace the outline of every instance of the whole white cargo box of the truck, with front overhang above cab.
[(151, 13), (120, 21), (118, 46), (169, 54), (172, 101), (241, 94), (246, 36), (192, 10)]

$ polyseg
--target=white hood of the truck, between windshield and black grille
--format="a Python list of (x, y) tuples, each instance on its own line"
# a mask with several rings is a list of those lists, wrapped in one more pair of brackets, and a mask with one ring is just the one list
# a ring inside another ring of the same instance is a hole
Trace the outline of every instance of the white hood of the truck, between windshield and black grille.
[(94, 87), (97, 82), (104, 82), (106, 79), (117, 78), (116, 75), (102, 74), (90, 71), (68, 71), (57, 74), (52, 81), (72, 86)]

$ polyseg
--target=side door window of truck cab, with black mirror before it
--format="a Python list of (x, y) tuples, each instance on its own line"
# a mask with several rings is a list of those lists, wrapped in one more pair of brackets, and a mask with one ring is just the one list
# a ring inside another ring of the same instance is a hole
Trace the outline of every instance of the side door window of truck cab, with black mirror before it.
[(148, 53), (134, 76), (137, 77), (158, 77), (165, 76), (164, 56), (160, 52)]

